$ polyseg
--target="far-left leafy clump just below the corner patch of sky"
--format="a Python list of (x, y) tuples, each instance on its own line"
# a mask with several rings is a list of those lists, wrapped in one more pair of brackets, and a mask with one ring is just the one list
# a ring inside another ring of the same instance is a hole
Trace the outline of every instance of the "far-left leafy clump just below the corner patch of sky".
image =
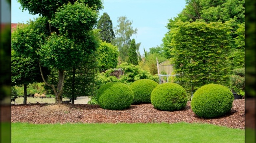
[(47, 18), (39, 17), (30, 20), (27, 24), (17, 24), (11, 34), (11, 49), (18, 56), (38, 59), (37, 50), (41, 48), (46, 37), (50, 35), (47, 31)]

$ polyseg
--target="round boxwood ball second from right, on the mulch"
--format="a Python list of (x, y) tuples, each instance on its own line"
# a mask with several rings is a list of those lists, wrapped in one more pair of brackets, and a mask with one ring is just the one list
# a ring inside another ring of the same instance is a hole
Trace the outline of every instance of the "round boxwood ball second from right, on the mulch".
[(156, 109), (163, 111), (180, 110), (187, 104), (187, 94), (178, 84), (164, 83), (153, 89), (151, 103)]

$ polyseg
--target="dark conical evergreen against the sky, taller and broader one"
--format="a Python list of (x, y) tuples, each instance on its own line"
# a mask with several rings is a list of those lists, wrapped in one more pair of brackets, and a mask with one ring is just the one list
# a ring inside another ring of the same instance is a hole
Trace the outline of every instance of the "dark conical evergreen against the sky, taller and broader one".
[(115, 39), (112, 21), (106, 12), (104, 12), (100, 17), (97, 24), (97, 29), (101, 30), (99, 33), (103, 42), (106, 41), (107, 43), (111, 43), (111, 41)]

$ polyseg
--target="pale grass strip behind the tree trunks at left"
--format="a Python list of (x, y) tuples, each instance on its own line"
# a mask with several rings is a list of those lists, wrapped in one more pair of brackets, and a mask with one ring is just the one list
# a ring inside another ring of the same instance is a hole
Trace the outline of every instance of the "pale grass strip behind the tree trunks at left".
[[(62, 101), (69, 100), (68, 98), (63, 98)], [(18, 97), (15, 100), (15, 104), (23, 104), (23, 97)], [(11, 102), (14, 104), (14, 102)], [(39, 97), (27, 97), (27, 103), (48, 103), (48, 104), (53, 104), (55, 103), (54, 98), (39, 98)]]

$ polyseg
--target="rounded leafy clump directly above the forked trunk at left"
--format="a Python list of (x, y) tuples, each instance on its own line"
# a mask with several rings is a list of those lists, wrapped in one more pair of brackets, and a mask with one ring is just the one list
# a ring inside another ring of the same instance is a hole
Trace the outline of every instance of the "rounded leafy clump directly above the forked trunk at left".
[(79, 50), (74, 40), (52, 33), (38, 54), (41, 56), (40, 61), (44, 66), (50, 69), (70, 70), (80, 60), (81, 56), (75, 56), (81, 53)]

